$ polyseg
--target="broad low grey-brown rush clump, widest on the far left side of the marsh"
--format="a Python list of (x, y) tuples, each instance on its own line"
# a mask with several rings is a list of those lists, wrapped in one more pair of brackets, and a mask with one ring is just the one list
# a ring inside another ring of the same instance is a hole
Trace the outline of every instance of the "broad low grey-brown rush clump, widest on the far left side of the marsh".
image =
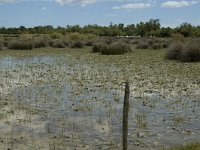
[(12, 40), (8, 43), (8, 48), (13, 50), (31, 50), (34, 44), (31, 41)]

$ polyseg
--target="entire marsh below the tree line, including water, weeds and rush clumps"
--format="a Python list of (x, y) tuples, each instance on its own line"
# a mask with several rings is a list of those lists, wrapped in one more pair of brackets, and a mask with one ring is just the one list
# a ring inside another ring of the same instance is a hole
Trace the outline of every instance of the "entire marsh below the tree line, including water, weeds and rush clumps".
[(129, 149), (199, 149), (199, 39), (149, 33), (2, 34), (0, 149), (122, 149), (126, 81)]

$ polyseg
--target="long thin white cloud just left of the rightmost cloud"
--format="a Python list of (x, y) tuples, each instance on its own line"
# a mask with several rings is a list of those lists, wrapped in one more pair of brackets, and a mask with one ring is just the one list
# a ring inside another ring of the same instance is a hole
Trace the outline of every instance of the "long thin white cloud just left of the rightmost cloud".
[(113, 9), (133, 10), (133, 9), (144, 9), (153, 7), (153, 3), (130, 3), (121, 6), (115, 6)]

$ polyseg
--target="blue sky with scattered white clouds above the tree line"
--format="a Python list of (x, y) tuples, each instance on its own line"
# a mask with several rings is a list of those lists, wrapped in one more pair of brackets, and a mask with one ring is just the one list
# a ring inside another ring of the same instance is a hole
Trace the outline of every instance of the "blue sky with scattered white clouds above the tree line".
[(137, 24), (200, 25), (200, 0), (0, 0), (0, 27)]

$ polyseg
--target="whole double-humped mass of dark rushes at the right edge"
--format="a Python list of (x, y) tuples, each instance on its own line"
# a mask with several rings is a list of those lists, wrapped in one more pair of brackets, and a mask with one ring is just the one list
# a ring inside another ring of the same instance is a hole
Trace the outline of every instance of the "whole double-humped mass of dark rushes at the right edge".
[(182, 62), (198, 62), (200, 61), (200, 44), (198, 41), (189, 41), (186, 44), (173, 43), (165, 57)]

